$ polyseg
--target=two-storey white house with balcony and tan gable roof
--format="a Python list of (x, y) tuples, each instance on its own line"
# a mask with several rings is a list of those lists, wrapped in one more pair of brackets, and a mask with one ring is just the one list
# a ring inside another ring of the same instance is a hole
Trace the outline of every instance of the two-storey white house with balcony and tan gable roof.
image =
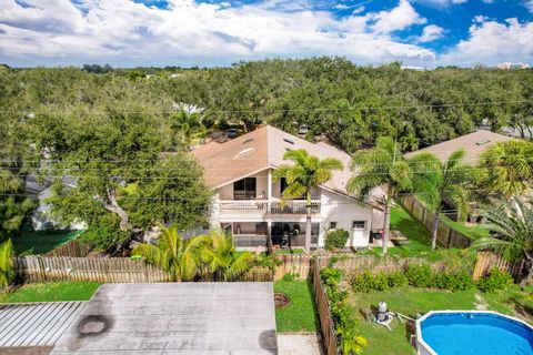
[(370, 231), (381, 229), (383, 219), (381, 211), (346, 192), (350, 155), (270, 125), (224, 143), (211, 142), (191, 153), (203, 166), (207, 184), (215, 191), (210, 226), (230, 232), (238, 247), (265, 245), (268, 235), (274, 245), (282, 236), (292, 235), (292, 246), (304, 246), (305, 201), (282, 204), (286, 182), (272, 181), (272, 171), (290, 163), (283, 161), (283, 154), (294, 149), (305, 149), (320, 159), (336, 158), (344, 164), (330, 182), (312, 191), (311, 247), (324, 245), (329, 229), (344, 229), (350, 232), (350, 245), (366, 246)]

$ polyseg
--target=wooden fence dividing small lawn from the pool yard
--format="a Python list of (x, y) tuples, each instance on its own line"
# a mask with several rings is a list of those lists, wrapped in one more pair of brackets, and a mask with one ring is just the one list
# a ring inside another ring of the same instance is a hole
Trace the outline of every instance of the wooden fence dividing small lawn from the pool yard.
[(338, 355), (335, 327), (331, 316), (330, 303), (322, 285), (320, 277), (320, 268), (318, 265), (313, 267), (313, 293), (316, 312), (319, 313), (320, 329), (322, 331), (322, 342), (328, 355)]

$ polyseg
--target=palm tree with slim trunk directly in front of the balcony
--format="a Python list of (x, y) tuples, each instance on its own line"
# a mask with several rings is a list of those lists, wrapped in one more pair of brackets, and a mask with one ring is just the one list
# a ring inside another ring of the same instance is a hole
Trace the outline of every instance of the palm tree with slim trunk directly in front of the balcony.
[(286, 189), (281, 194), (282, 202), (305, 197), (305, 253), (311, 252), (311, 191), (326, 183), (332, 178), (333, 170), (342, 170), (342, 162), (335, 158), (320, 160), (310, 155), (304, 149), (285, 152), (283, 160), (290, 160), (292, 165), (283, 164), (274, 170), (274, 182), (284, 178)]

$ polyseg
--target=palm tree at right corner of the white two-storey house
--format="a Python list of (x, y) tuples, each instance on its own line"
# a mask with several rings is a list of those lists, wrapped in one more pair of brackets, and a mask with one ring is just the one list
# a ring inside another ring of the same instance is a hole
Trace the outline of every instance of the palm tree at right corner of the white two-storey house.
[(348, 182), (348, 191), (360, 197), (370, 196), (374, 187), (386, 186), (383, 206), (383, 254), (386, 254), (391, 225), (391, 205), (400, 191), (411, 190), (411, 169), (400, 154), (400, 148), (390, 136), (380, 136), (375, 146), (355, 153), (352, 159), (355, 175)]

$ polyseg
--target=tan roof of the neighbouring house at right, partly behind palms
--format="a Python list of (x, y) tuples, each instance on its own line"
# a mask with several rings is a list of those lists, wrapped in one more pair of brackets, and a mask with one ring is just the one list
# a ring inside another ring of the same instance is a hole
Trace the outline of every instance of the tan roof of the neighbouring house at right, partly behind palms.
[(405, 154), (405, 156), (410, 158), (420, 153), (433, 153), (441, 161), (445, 161), (452, 152), (464, 149), (466, 151), (464, 161), (469, 164), (476, 164), (481, 153), (483, 153), (489, 146), (492, 146), (500, 142), (506, 142), (512, 140), (514, 139), (511, 136), (494, 133), (491, 131), (480, 130), (408, 153)]

